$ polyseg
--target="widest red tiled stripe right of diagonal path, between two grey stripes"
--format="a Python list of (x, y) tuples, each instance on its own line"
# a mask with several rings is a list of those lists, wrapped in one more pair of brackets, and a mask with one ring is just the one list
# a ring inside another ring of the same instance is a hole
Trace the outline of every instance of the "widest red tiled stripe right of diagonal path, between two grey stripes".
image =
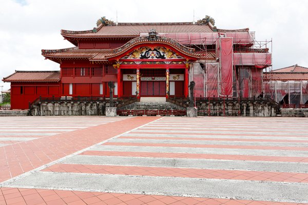
[(308, 183), (307, 173), (56, 164), (42, 171)]

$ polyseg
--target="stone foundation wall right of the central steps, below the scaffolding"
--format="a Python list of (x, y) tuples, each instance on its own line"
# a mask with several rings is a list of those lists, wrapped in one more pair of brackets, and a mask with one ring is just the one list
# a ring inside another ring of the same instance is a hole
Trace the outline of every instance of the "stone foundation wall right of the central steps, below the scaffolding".
[[(208, 110), (211, 112), (209, 113)], [(225, 103), (198, 104), (198, 116), (259, 116), (275, 117), (279, 111), (267, 103)]]

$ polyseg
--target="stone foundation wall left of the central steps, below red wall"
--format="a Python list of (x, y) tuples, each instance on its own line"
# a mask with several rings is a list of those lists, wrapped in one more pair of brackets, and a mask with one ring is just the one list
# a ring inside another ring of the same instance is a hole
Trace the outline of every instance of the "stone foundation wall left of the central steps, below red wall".
[(105, 115), (106, 105), (109, 103), (91, 102), (53, 102), (40, 103), (33, 106), (31, 115), (33, 116), (55, 116), (55, 115)]

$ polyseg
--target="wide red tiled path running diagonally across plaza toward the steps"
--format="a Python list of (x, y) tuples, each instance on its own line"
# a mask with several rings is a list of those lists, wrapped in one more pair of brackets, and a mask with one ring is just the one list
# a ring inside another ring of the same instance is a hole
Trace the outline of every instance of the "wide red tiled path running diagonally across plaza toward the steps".
[(0, 182), (159, 118), (133, 117), (0, 147)]

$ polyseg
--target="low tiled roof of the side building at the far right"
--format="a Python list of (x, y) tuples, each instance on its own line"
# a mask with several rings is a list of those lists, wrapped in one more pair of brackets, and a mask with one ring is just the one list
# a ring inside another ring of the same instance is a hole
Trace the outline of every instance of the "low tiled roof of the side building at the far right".
[(269, 72), (263, 73), (263, 80), (308, 80), (308, 72)]

